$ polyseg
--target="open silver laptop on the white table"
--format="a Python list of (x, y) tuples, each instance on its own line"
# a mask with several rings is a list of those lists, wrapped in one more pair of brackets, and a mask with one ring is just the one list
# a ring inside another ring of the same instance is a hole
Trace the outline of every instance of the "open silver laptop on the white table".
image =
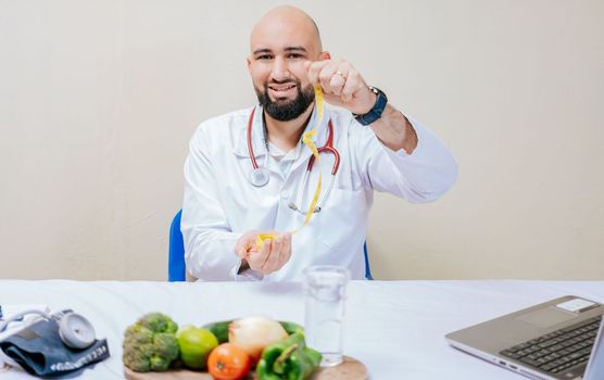
[(567, 295), (445, 335), (452, 346), (539, 380), (604, 380), (604, 305)]

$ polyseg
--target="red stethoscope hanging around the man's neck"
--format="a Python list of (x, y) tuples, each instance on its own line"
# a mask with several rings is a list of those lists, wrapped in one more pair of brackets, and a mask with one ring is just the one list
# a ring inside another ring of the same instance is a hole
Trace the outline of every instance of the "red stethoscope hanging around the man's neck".
[[(264, 166), (260, 166), (256, 162), (256, 159), (254, 156), (254, 148), (252, 144), (252, 125), (253, 125), (253, 119), (254, 119), (254, 113), (255, 113), (255, 107), (252, 110), (252, 113), (250, 115), (250, 119), (248, 121), (248, 152), (250, 153), (250, 160), (252, 162), (252, 170), (250, 172), (250, 183), (252, 183), (255, 187), (263, 187), (266, 183), (268, 183), (268, 169), (266, 168), (266, 160), (268, 157), (268, 152), (265, 156), (264, 160)], [(340, 167), (340, 153), (338, 152), (338, 150), (336, 148), (334, 148), (334, 125), (331, 124), (331, 119), (329, 119), (329, 123), (327, 124), (328, 128), (329, 128), (329, 135), (327, 137), (327, 141), (325, 142), (325, 145), (317, 148), (318, 153), (331, 153), (334, 154), (334, 166), (331, 167), (331, 180), (329, 181), (329, 186), (327, 187), (327, 191), (323, 194), (323, 197), (320, 198), (320, 200), (317, 202), (315, 210), (313, 211), (314, 213), (318, 213), (322, 210), (322, 204), (325, 204), (325, 200), (327, 199), (327, 197), (329, 195), (329, 193), (331, 192), (331, 188), (334, 187), (334, 180), (336, 178), (336, 173), (338, 173), (338, 168)], [(268, 142), (266, 142), (267, 144), (267, 151), (268, 151)], [(311, 155), (311, 157), (309, 159), (309, 165), (306, 165), (306, 172), (304, 173), (304, 178), (302, 179), (302, 185), (303, 188), (306, 188), (306, 183), (309, 181), (309, 175), (310, 173), (313, 170), (313, 166), (315, 163), (315, 156)], [(289, 207), (293, 211), (297, 211), (301, 214), (305, 214), (305, 210), (306, 208), (301, 208), (298, 207), (297, 204), (300, 204), (299, 202), (301, 201), (302, 194), (299, 194), (299, 197), (297, 198), (297, 202), (290, 202), (289, 203)]]

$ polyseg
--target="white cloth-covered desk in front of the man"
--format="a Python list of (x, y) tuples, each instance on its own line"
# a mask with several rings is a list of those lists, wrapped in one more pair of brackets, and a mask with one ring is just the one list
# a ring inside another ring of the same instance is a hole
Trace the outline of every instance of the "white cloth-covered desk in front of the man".
[[(604, 281), (353, 281), (344, 322), (344, 351), (376, 380), (521, 379), (450, 347), (444, 334), (561, 295), (604, 302)], [(263, 314), (303, 322), (300, 283), (78, 282), (0, 280), (0, 302), (73, 308), (106, 338), (111, 358), (79, 379), (121, 379), (122, 337), (148, 312), (197, 326)], [(32, 379), (20, 370), (4, 379)]]

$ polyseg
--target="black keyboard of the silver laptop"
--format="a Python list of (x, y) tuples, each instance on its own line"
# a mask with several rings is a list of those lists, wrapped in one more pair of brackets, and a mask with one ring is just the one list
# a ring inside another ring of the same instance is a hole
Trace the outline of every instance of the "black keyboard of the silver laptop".
[(543, 371), (557, 373), (589, 359), (601, 319), (599, 316), (583, 320), (517, 344), (500, 354)]

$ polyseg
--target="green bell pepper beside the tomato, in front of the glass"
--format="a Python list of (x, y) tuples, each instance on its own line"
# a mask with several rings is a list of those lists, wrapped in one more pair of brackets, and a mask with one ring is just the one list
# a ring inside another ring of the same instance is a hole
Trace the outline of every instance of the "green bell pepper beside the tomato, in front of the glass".
[(320, 353), (306, 346), (304, 333), (297, 331), (264, 349), (256, 366), (257, 379), (305, 380), (318, 368), (320, 358)]

